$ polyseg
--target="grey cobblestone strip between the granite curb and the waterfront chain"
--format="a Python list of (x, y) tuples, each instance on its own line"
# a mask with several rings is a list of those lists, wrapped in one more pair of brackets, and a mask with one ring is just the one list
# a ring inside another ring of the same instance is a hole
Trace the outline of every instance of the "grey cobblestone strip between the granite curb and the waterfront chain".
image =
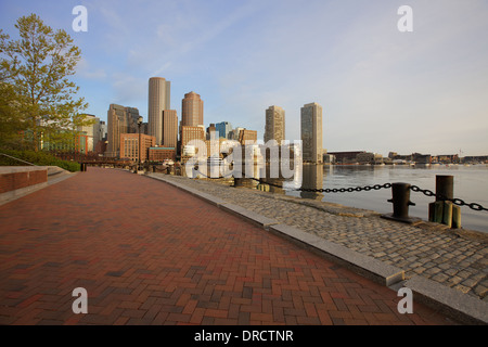
[(403, 269), (407, 279), (419, 274), (488, 301), (488, 235), (484, 233), (428, 222), (410, 226), (370, 210), (236, 189), (222, 181), (164, 177)]

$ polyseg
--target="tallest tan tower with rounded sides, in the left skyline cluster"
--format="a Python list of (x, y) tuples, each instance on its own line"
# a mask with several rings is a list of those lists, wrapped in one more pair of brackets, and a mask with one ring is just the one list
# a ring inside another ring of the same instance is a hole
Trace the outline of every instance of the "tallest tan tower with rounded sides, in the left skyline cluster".
[(171, 82), (163, 77), (149, 80), (149, 134), (156, 138), (156, 144), (163, 143), (163, 111), (170, 107)]

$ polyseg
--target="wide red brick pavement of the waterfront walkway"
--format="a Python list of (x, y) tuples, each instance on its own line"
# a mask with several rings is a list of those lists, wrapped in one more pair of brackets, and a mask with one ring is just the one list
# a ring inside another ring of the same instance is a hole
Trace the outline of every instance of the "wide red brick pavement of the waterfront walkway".
[[(0, 324), (450, 324), (166, 183), (89, 168), (0, 206)], [(72, 292), (88, 292), (75, 314)]]

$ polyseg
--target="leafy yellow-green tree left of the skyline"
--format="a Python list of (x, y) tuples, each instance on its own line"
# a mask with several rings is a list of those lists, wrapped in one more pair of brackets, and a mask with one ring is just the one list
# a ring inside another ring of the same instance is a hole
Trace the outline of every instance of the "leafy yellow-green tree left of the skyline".
[(15, 119), (28, 130), (37, 152), (41, 139), (73, 137), (77, 126), (89, 125), (79, 121), (88, 104), (69, 80), (81, 52), (65, 30), (54, 31), (36, 14), (18, 18), (15, 28), (16, 40), (0, 30), (0, 82), (9, 90), (9, 106), (0, 112), (2, 121)]

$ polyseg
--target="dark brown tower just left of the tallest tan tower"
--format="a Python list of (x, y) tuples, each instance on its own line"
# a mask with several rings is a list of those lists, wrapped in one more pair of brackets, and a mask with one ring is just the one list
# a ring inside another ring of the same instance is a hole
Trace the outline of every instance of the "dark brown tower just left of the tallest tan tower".
[(124, 107), (116, 104), (111, 104), (107, 111), (107, 150), (105, 156), (119, 157), (120, 156), (120, 134), (121, 133), (137, 133), (139, 110), (133, 107)]

